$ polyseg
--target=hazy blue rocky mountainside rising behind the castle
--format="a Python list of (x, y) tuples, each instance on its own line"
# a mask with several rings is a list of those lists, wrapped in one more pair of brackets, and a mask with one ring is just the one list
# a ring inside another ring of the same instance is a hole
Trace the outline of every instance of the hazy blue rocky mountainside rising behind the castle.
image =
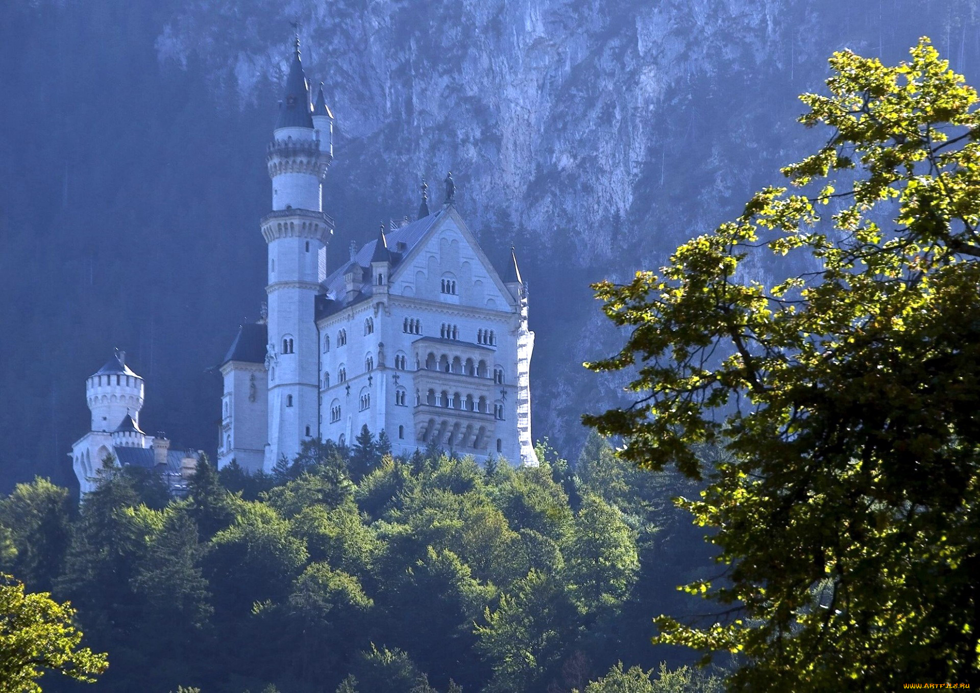
[[(65, 0), (38, 0), (5, 11), (15, 20), (7, 31), (17, 32), (2, 54), (18, 61), (11, 86), (36, 91), (35, 104), (58, 103), (41, 78), (50, 71), (37, 21), (48, 18), (62, 39), (46, 54), (59, 61), (53, 80), (74, 90), (82, 113), (17, 124), (24, 139), (11, 155), (22, 167), (37, 155), (27, 149), (38, 138), (34, 127), (43, 124), (55, 139), (74, 128), (75, 136), (62, 137), (67, 150), (51, 146), (62, 156), (48, 178), (15, 186), (61, 211), (30, 221), (8, 193), (0, 223), (48, 229), (57, 241), (50, 271), (71, 277), (87, 298), (57, 327), (35, 325), (55, 341), (78, 327), (78, 360), (56, 350), (65, 364), (38, 369), (61, 393), (59, 404), (41, 396), (26, 408), (28, 428), (42, 437), (41, 422), (55, 413), (64, 429), (59, 449), (0, 438), (0, 458), (55, 458), (67, 449), (81, 432), (75, 420), (83, 420), (62, 414), (84, 407), (73, 383), (100, 363), (89, 356), (107, 351), (109, 339), (138, 342), (128, 348), (137, 362), (152, 363), (148, 388), (151, 397), (160, 392), (160, 418), (188, 443), (213, 447), (214, 383), (188, 389), (187, 380), (205, 378), (201, 371), (261, 300), (265, 247), (256, 227), (269, 198), (262, 152), (293, 20), (301, 23), (307, 72), (323, 80), (336, 117), (324, 196), (338, 221), (332, 257), (346, 255), (351, 238), (368, 240), (378, 219), (413, 214), (422, 175), (438, 191), (433, 181), (452, 170), (459, 207), (488, 255), (502, 262), (512, 243), (517, 248), (538, 334), (534, 432), (574, 454), (584, 435), (578, 415), (618, 397), (616, 382), (581, 368), (617, 344), (588, 282), (660, 266), (678, 242), (737, 213), (753, 189), (777, 179), (780, 165), (819, 141), (821, 133), (794, 123), (802, 110), (796, 95), (820, 88), (832, 51), (895, 61), (929, 34), (969, 77), (980, 65), (974, 5), (169, 0), (151, 11), (98, 0), (83, 13)], [(75, 35), (79, 25), (86, 35)], [(82, 76), (90, 83), (77, 83), (79, 70), (89, 71)], [(102, 82), (112, 88), (100, 91)], [(104, 112), (111, 94), (128, 94), (116, 112), (124, 118)], [(6, 117), (21, 112), (15, 106)], [(114, 214), (127, 232), (105, 230)], [(123, 238), (131, 249), (119, 248)], [(151, 259), (156, 269), (132, 273), (110, 260), (130, 257)], [(108, 274), (101, 283), (100, 273)], [(28, 278), (13, 281), (25, 306), (38, 302), (39, 314), (22, 322), (46, 321), (43, 304), (55, 299), (28, 289)], [(133, 300), (139, 287), (147, 302)], [(94, 310), (112, 316), (102, 333), (84, 329)], [(24, 359), (9, 353), (5, 369)]]

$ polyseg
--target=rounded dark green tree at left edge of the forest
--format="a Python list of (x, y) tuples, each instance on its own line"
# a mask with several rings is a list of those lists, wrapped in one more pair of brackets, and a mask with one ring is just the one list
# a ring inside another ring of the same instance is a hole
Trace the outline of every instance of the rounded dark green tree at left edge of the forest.
[(13, 548), (0, 566), (36, 589), (50, 589), (61, 572), (71, 540), (72, 499), (67, 488), (35, 477), (0, 500), (0, 526)]

